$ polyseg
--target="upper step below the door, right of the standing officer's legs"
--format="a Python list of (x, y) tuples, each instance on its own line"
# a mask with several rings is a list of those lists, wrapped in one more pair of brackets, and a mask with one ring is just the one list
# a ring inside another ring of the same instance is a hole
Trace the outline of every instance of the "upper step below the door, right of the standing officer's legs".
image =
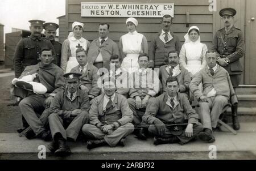
[(253, 95), (237, 95), (238, 105), (241, 107), (256, 107), (256, 94)]

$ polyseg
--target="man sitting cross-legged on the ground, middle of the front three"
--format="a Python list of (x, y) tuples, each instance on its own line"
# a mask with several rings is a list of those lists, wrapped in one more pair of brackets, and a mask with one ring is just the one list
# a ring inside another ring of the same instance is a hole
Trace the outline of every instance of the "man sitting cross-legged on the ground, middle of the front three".
[(105, 93), (92, 100), (89, 123), (82, 127), (82, 132), (89, 139), (87, 148), (92, 149), (108, 144), (110, 147), (121, 143), (134, 131), (133, 113), (124, 96), (115, 93), (113, 80), (104, 82)]

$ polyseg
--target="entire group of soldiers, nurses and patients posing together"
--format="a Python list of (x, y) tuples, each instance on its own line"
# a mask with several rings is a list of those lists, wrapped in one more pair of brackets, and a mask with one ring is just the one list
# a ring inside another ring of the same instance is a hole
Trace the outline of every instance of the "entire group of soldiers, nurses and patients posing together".
[(14, 54), (12, 94), (23, 118), (17, 131), (28, 139), (52, 141), (52, 152), (67, 155), (67, 140), (79, 137), (88, 149), (125, 146), (131, 133), (138, 139), (153, 135), (155, 145), (185, 144), (197, 137), (212, 143), (229, 105), (233, 128), (240, 129), (234, 88), (241, 78), (244, 42), (233, 25), (235, 14), (233, 8), (220, 11), (225, 27), (210, 50), (196, 26), (181, 46), (171, 32), (170, 15), (163, 16), (162, 31), (149, 48), (135, 18), (126, 20), (129, 32), (121, 36), (119, 48), (108, 37), (108, 23), (100, 23), (100, 37), (89, 42), (82, 37), (84, 24), (74, 22), (61, 46), (54, 40), (57, 24), (30, 20), (31, 36), (20, 40)]

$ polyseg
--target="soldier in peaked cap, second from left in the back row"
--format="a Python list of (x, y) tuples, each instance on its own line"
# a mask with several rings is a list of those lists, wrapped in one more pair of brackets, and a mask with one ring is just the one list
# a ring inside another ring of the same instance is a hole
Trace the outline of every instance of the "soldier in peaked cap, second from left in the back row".
[(61, 57), (61, 43), (59, 41), (55, 41), (56, 37), (56, 29), (59, 28), (58, 24), (55, 23), (44, 23), (44, 29), (46, 30), (44, 34), (46, 35), (46, 39), (51, 41), (55, 53), (56, 53), (56, 64), (60, 67), (60, 57)]

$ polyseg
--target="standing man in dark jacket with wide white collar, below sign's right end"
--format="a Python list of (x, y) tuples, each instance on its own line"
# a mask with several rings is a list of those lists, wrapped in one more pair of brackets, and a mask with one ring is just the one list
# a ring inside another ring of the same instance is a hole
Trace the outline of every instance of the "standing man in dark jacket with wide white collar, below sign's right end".
[(149, 49), (150, 64), (148, 67), (159, 68), (168, 64), (168, 53), (170, 51), (180, 52), (181, 44), (179, 37), (174, 35), (171, 30), (171, 15), (164, 15), (162, 18), (162, 32), (156, 33), (151, 41)]

